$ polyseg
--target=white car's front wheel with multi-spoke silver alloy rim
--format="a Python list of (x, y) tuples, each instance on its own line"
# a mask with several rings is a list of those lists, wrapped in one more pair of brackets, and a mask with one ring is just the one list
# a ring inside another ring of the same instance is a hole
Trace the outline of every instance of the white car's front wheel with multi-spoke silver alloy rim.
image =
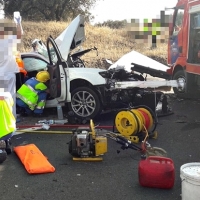
[(72, 91), (69, 109), (77, 117), (92, 119), (101, 112), (101, 102), (92, 89), (79, 87)]

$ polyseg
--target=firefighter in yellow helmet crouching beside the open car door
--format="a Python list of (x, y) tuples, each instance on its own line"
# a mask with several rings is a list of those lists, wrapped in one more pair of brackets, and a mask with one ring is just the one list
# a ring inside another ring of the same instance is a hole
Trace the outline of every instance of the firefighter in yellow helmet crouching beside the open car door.
[(36, 77), (28, 79), (17, 91), (16, 103), (25, 109), (24, 116), (44, 117), (43, 110), (49, 93), (47, 81), (50, 75), (47, 71), (40, 71)]

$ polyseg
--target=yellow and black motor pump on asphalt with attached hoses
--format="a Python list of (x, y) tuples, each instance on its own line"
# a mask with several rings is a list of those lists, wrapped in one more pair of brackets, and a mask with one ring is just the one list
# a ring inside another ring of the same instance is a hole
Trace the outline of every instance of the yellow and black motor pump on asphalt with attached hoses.
[(120, 144), (123, 150), (130, 148), (139, 151), (142, 157), (152, 155), (166, 156), (165, 150), (150, 146), (147, 142), (149, 135), (145, 126), (144, 131), (146, 133), (144, 140), (141, 142), (141, 146), (137, 146), (122, 134), (95, 129), (93, 121), (90, 120), (90, 127), (79, 127), (72, 131), (69, 153), (75, 161), (102, 161), (102, 155), (107, 152), (107, 138), (109, 138)]

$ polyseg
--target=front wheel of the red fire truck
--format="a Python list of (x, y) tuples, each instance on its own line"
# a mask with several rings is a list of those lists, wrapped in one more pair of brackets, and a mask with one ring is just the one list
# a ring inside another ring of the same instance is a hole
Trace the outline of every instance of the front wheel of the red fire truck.
[(186, 94), (186, 77), (185, 77), (185, 73), (182, 70), (179, 70), (177, 72), (175, 72), (174, 76), (173, 76), (173, 80), (180, 80), (184, 82), (184, 87), (183, 88), (173, 88), (174, 93), (178, 96), (178, 97), (187, 97)]

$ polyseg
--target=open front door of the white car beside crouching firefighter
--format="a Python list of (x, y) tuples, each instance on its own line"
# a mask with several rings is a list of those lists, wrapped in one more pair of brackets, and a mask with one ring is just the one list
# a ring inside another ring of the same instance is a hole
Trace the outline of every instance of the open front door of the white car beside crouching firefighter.
[[(69, 77), (67, 62), (62, 58), (60, 51), (50, 36), (47, 39), (47, 51), (50, 64), (48, 72), (50, 73), (49, 90), (50, 96), (56, 98), (58, 102), (66, 101), (69, 94)], [(69, 97), (68, 97), (69, 98)]]

